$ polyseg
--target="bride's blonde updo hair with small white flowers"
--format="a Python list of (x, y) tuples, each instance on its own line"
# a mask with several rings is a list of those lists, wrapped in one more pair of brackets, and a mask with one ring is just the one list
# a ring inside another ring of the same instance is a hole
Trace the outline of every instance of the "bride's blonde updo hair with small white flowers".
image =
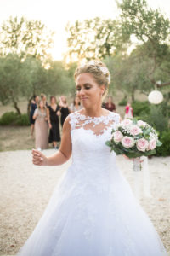
[(111, 74), (105, 64), (101, 61), (89, 61), (88, 63), (77, 67), (74, 73), (75, 80), (81, 73), (90, 73), (93, 75), (97, 84), (105, 85), (105, 93), (107, 94), (109, 84), (111, 82)]

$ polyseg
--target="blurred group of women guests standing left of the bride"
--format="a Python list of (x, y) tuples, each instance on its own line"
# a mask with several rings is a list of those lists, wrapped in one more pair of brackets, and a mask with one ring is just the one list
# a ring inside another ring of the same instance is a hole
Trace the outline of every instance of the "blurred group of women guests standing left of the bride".
[(59, 103), (55, 96), (50, 96), (49, 104), (44, 94), (34, 96), (31, 101), (30, 122), (31, 137), (33, 137), (35, 131), (35, 147), (41, 150), (48, 148), (48, 143), (52, 143), (54, 148), (59, 148), (59, 125), (63, 127), (68, 114), (81, 108), (77, 97), (69, 107), (65, 96), (59, 97)]

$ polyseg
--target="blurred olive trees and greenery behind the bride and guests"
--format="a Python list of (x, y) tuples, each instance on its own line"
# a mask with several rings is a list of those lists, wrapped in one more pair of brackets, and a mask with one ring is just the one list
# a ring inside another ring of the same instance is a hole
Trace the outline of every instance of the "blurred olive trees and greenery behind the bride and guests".
[[(117, 112), (123, 118), (124, 107), (131, 102), (134, 116), (159, 132), (163, 145), (157, 149), (157, 155), (170, 155), (170, 20), (159, 9), (150, 9), (145, 0), (123, 0), (117, 6), (120, 12), (114, 20), (96, 17), (68, 24), (67, 51), (62, 61), (54, 61), (48, 53), (54, 44), (54, 32), (42, 21), (23, 16), (9, 17), (3, 22), (1, 131), (7, 125), (29, 125), (33, 95), (64, 94), (71, 102), (75, 96), (73, 74), (77, 65), (98, 59), (111, 72), (109, 95), (114, 98)], [(161, 81), (158, 90), (164, 101), (154, 106), (147, 96), (155, 90), (157, 81)], [(3, 146), (0, 150), (4, 150)]]

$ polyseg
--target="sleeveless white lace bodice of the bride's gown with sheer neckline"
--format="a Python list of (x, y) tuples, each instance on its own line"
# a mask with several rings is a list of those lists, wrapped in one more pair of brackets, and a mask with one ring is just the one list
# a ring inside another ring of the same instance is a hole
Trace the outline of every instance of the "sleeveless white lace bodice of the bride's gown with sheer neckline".
[(105, 172), (107, 166), (111, 166), (112, 157), (115, 157), (115, 154), (111, 153), (111, 149), (105, 145), (105, 142), (111, 137), (111, 130), (119, 121), (120, 115), (118, 113), (109, 113), (106, 116), (94, 118), (79, 112), (71, 113), (72, 160), (74, 166), (81, 167), (86, 175), (88, 175), (89, 170), (90, 176), (92, 175), (92, 169), (94, 172), (95, 170)]

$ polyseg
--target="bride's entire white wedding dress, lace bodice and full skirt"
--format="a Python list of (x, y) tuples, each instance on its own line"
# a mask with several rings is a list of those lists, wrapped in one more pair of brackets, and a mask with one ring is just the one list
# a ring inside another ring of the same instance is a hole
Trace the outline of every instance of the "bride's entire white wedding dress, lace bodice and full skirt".
[(72, 164), (18, 256), (167, 255), (105, 145), (119, 119), (70, 114)]

